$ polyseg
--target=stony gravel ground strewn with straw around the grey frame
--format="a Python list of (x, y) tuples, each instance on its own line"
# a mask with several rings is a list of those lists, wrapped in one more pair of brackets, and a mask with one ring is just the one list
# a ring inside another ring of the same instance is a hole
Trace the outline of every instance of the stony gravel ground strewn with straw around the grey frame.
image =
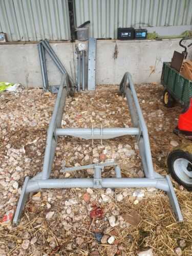
[[(166, 157), (183, 136), (173, 134), (181, 111), (166, 109), (159, 84), (136, 86), (148, 126), (155, 170), (167, 173)], [(184, 216), (177, 223), (167, 196), (148, 189), (42, 190), (26, 204), (19, 226), (12, 219), (25, 176), (42, 169), (55, 95), (40, 89), (0, 94), (0, 255), (192, 255), (191, 193), (174, 182)], [(117, 86), (68, 98), (63, 127), (129, 127), (126, 100)], [(132, 137), (111, 140), (58, 139), (51, 177), (92, 177), (93, 169), (60, 173), (114, 159), (123, 177), (143, 177), (138, 145)], [(107, 167), (103, 177), (113, 177)], [(146, 252), (143, 252), (147, 250)], [(144, 254), (145, 253), (145, 254)]]

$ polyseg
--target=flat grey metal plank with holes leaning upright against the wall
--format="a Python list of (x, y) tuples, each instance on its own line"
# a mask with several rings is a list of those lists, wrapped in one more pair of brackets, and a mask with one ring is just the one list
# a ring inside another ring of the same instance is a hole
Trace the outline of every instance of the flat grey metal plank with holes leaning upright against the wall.
[(89, 91), (95, 91), (96, 48), (97, 48), (97, 39), (90, 37), (89, 52), (88, 52), (88, 90)]

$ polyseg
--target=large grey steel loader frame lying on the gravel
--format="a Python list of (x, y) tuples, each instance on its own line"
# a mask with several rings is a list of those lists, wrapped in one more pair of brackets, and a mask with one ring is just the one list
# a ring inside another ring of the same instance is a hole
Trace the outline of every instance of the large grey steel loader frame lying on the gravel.
[[(126, 187), (156, 187), (165, 191), (169, 197), (170, 203), (175, 211), (178, 221), (183, 221), (179, 203), (169, 176), (161, 176), (154, 171), (150, 142), (148, 139), (147, 127), (140, 109), (134, 84), (130, 73), (125, 73), (120, 83), (120, 92), (126, 96), (127, 104), (130, 109), (133, 128), (90, 128), (90, 129), (61, 129), (61, 120), (63, 109), (66, 102), (66, 96), (69, 86), (69, 76), (62, 76), (57, 99), (55, 102), (53, 115), (49, 124), (47, 144), (42, 172), (38, 173), (32, 179), (25, 178), (22, 193), (20, 195), (13, 223), (18, 224), (22, 210), (25, 207), (26, 200), (30, 193), (34, 193), (43, 188), (126, 188)], [(121, 178), (120, 167), (114, 162), (105, 162), (95, 165), (66, 168), (63, 172), (71, 172), (77, 169), (94, 168), (93, 178), (65, 178), (50, 179), (55, 148), (58, 136), (75, 136), (83, 139), (110, 139), (118, 136), (134, 135), (139, 144), (139, 151), (142, 160), (145, 178)], [(102, 178), (101, 170), (106, 165), (115, 166), (115, 178)]]

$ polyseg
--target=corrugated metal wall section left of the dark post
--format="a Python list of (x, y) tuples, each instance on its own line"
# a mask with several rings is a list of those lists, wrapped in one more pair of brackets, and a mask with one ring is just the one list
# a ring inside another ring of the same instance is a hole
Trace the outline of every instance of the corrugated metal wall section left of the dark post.
[(0, 31), (9, 41), (71, 38), (67, 0), (0, 0)]

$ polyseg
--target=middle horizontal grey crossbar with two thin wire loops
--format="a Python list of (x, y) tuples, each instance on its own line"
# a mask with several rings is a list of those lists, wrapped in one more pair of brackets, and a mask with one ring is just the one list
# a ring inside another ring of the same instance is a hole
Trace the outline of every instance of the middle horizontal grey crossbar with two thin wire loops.
[(112, 139), (124, 135), (139, 135), (138, 128), (66, 128), (56, 129), (57, 136), (73, 136), (83, 139)]

